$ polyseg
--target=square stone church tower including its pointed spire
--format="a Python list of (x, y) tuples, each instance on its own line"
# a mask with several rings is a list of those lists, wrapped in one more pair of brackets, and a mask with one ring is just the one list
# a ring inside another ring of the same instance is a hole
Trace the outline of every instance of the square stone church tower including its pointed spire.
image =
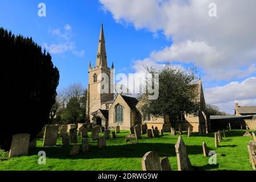
[(102, 103), (114, 100), (113, 72), (114, 64), (112, 64), (111, 69), (108, 67), (105, 36), (103, 24), (101, 24), (96, 65), (95, 67), (92, 67), (91, 63), (89, 63), (89, 82), (86, 108), (89, 121), (92, 119), (92, 113), (98, 109), (106, 109), (102, 108)]

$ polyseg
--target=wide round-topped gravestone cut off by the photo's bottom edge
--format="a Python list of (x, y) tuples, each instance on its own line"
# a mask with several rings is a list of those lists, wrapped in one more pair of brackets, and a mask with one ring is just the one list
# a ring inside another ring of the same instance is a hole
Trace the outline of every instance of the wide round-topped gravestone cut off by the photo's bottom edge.
[(141, 159), (142, 171), (161, 171), (160, 159), (157, 152), (147, 152)]

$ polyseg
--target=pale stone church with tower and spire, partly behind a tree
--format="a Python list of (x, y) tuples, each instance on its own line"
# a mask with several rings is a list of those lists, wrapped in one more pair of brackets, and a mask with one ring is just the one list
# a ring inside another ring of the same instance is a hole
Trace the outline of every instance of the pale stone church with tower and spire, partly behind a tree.
[[(163, 129), (164, 132), (170, 132), (170, 119), (143, 114), (140, 109), (142, 101), (121, 94), (114, 98), (114, 63), (109, 68), (107, 58), (104, 30), (101, 25), (96, 65), (92, 67), (92, 64), (89, 63), (88, 71), (86, 115), (88, 115), (89, 122), (108, 129), (120, 126), (121, 130), (129, 130), (131, 126), (146, 124), (148, 129), (158, 127), (158, 130)], [(205, 100), (201, 80), (198, 82), (196, 92), (201, 108), (204, 108)], [(208, 133), (210, 130), (209, 117), (203, 110), (200, 110), (197, 115), (181, 115), (179, 121), (176, 122), (176, 130), (177, 128), (187, 130), (188, 127), (191, 127), (193, 132)]]

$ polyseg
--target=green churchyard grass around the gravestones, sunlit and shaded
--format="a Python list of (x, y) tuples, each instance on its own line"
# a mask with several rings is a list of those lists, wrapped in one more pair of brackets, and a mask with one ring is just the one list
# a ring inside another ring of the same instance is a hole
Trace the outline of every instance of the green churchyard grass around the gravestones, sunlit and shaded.
[[(233, 130), (230, 133), (226, 131), (226, 137), (223, 137), (220, 147), (215, 148), (213, 133), (201, 136), (191, 133), (192, 136), (187, 138), (187, 132), (184, 132), (182, 137), (193, 169), (195, 171), (252, 171), (247, 143), (253, 138), (242, 137), (243, 133), (241, 130)], [(170, 133), (164, 133), (163, 137), (146, 139), (146, 135), (142, 135), (143, 139), (137, 140), (137, 143), (128, 144), (125, 142), (127, 134), (129, 131), (121, 131), (117, 134), (117, 138), (108, 139), (107, 147), (101, 149), (97, 148), (97, 141), (89, 138), (89, 151), (84, 153), (80, 151), (76, 156), (69, 156), (72, 145), (61, 147), (61, 138), (58, 138), (55, 147), (42, 147), (43, 139), (38, 139), (37, 147), (30, 150), (28, 156), (0, 160), (0, 171), (140, 171), (141, 159), (148, 151), (158, 152), (160, 158), (168, 156), (172, 170), (177, 171), (175, 152), (177, 136), (172, 137)], [(203, 142), (207, 143), (209, 150), (217, 152), (216, 165), (210, 165), (209, 158), (203, 156)], [(80, 136), (78, 143), (81, 146)], [(46, 152), (46, 165), (38, 164), (39, 151)]]

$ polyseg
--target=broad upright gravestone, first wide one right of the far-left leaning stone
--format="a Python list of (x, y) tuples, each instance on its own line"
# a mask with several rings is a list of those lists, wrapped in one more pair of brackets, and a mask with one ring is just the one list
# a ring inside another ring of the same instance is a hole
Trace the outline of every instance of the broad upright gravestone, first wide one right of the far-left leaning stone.
[(44, 131), (43, 147), (56, 146), (58, 131), (59, 126), (46, 126), (46, 131)]

